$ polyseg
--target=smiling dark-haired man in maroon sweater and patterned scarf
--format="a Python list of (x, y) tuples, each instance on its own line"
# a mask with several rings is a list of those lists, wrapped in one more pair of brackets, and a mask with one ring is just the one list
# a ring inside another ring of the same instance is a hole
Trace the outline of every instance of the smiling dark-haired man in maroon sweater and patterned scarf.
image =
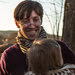
[[(41, 26), (43, 8), (36, 1), (24, 0), (14, 11), (15, 24), (19, 28), (17, 44), (4, 50), (0, 60), (0, 75), (24, 75), (28, 70), (26, 51), (36, 38), (47, 38)], [(75, 64), (75, 56), (61, 41), (64, 63)]]

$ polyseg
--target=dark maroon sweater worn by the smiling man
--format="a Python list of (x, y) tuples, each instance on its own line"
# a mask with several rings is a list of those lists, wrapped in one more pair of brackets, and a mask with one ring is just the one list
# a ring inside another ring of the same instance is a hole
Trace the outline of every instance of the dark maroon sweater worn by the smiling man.
[[(61, 46), (64, 63), (75, 64), (75, 55), (61, 41), (57, 41)], [(0, 75), (24, 75), (28, 69), (26, 55), (23, 54), (18, 44), (7, 48), (0, 60)]]

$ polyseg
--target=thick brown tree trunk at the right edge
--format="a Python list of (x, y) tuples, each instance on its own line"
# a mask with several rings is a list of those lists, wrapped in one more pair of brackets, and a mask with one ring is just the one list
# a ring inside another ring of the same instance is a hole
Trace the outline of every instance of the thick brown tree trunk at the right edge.
[(65, 2), (62, 41), (75, 53), (75, 0)]

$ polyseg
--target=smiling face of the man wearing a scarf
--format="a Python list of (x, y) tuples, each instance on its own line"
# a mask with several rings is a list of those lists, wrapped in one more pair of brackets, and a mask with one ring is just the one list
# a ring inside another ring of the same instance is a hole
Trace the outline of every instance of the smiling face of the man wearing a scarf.
[(41, 18), (35, 11), (31, 12), (29, 18), (27, 18), (25, 13), (23, 20), (19, 23), (19, 27), (25, 38), (34, 40), (41, 31)]

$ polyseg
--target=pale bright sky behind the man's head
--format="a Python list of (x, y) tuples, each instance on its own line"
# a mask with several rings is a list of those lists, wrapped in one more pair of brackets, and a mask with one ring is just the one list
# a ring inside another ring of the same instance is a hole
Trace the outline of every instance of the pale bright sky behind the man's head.
[[(0, 30), (18, 30), (14, 22), (14, 9), (18, 3), (22, 0), (0, 0)], [(62, 0), (35, 0), (42, 4), (44, 9), (43, 23), (42, 26), (46, 30), (47, 33), (52, 34), (52, 30), (56, 24), (56, 16), (55, 16), (55, 8), (53, 3), (56, 3), (56, 11), (57, 11), (57, 21), (59, 21), (59, 12), (61, 8)], [(62, 11), (63, 12), (63, 11)], [(47, 16), (48, 15), (48, 16)], [(62, 35), (63, 28), (63, 16), (60, 22), (60, 32), (59, 35)], [(56, 34), (56, 29), (55, 29)]]

